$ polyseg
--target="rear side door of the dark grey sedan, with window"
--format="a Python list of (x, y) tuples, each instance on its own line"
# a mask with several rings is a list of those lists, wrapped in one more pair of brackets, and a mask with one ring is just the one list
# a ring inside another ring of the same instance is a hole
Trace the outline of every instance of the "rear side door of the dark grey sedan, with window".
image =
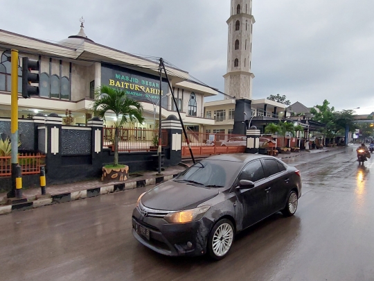
[(268, 196), (271, 213), (278, 212), (285, 207), (290, 178), (288, 178), (285, 166), (278, 160), (265, 158), (262, 159), (262, 164), (269, 183)]

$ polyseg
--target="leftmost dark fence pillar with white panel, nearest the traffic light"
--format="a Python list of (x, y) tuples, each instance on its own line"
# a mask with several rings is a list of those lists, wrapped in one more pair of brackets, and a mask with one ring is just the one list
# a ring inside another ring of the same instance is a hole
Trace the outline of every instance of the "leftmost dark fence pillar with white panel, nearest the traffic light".
[(58, 173), (62, 166), (61, 157), (61, 129), (62, 117), (51, 113), (46, 117), (46, 175)]

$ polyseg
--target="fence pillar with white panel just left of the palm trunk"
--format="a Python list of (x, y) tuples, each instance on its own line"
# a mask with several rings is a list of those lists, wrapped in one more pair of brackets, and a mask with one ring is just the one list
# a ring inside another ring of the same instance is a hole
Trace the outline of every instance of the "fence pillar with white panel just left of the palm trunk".
[(104, 122), (98, 117), (87, 121), (91, 128), (91, 160), (94, 167), (101, 169), (103, 166), (103, 127)]

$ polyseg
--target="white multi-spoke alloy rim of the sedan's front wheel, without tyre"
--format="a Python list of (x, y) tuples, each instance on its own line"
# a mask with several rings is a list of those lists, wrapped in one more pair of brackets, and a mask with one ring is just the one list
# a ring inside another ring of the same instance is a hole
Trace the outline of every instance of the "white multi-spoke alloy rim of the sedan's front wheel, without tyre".
[(222, 257), (229, 252), (231, 244), (233, 244), (233, 228), (229, 223), (222, 223), (213, 235), (213, 253), (218, 257)]

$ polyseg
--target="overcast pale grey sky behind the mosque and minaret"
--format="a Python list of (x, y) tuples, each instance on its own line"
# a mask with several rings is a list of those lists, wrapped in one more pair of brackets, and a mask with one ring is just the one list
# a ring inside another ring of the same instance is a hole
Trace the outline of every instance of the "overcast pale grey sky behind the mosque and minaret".
[[(78, 33), (83, 16), (95, 42), (165, 58), (224, 90), (229, 0), (0, 0), (0, 6), (1, 29), (58, 41)], [(373, 10), (372, 0), (253, 0), (253, 99), (285, 94), (308, 107), (328, 99), (337, 109), (373, 112)]]

